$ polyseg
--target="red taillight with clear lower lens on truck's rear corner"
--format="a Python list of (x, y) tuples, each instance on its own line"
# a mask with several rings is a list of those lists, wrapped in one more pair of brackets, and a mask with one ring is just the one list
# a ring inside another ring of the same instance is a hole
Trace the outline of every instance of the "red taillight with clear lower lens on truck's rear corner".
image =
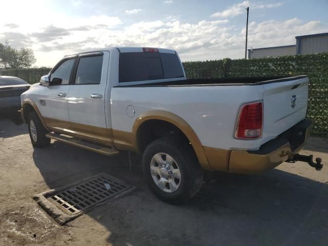
[(262, 136), (263, 105), (261, 101), (241, 106), (235, 138), (252, 139)]

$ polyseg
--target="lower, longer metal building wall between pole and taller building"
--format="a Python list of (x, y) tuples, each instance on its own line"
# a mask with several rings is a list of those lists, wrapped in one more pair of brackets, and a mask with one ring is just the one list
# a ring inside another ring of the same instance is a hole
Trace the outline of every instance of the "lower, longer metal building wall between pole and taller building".
[(268, 48), (258, 48), (248, 50), (249, 58), (260, 58), (260, 57), (271, 57), (271, 56), (283, 56), (283, 55), (295, 55), (296, 46), (278, 46), (278, 47), (268, 47)]

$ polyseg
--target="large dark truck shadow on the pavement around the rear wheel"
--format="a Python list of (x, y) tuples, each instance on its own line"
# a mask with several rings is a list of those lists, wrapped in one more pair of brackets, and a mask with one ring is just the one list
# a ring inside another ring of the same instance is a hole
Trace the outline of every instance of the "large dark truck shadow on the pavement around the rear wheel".
[(33, 159), (50, 189), (100, 172), (138, 188), (86, 213), (113, 245), (328, 245), (327, 185), (291, 173), (218, 173), (189, 203), (171, 206), (152, 195), (140, 160), (130, 168), (126, 152), (107, 157), (54, 142)]

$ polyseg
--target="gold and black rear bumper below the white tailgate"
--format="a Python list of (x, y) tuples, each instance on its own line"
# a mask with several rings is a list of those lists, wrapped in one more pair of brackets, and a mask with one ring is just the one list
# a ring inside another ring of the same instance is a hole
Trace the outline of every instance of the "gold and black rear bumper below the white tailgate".
[(304, 119), (256, 151), (233, 150), (229, 172), (259, 174), (273, 169), (297, 154), (305, 145), (312, 129), (312, 121)]

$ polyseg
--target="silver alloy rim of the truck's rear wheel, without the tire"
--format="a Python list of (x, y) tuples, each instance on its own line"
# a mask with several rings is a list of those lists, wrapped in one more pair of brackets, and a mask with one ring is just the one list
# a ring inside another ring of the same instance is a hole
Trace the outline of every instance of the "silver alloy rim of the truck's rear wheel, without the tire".
[(166, 153), (157, 153), (150, 161), (150, 173), (157, 187), (165, 192), (175, 192), (181, 183), (180, 169)]

